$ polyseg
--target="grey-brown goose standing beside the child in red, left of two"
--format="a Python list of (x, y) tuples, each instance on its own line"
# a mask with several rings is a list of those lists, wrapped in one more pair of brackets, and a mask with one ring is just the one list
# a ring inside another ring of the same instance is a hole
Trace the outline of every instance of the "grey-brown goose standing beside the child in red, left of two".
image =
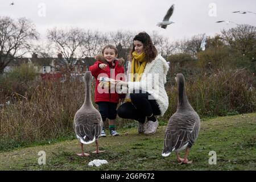
[(81, 142), (82, 153), (79, 156), (89, 156), (84, 153), (84, 144), (93, 143), (96, 141), (96, 154), (102, 152), (98, 150), (98, 138), (102, 130), (102, 119), (100, 112), (95, 109), (91, 100), (91, 83), (92, 73), (85, 72), (85, 100), (81, 108), (76, 111), (74, 118), (74, 130), (77, 139)]

